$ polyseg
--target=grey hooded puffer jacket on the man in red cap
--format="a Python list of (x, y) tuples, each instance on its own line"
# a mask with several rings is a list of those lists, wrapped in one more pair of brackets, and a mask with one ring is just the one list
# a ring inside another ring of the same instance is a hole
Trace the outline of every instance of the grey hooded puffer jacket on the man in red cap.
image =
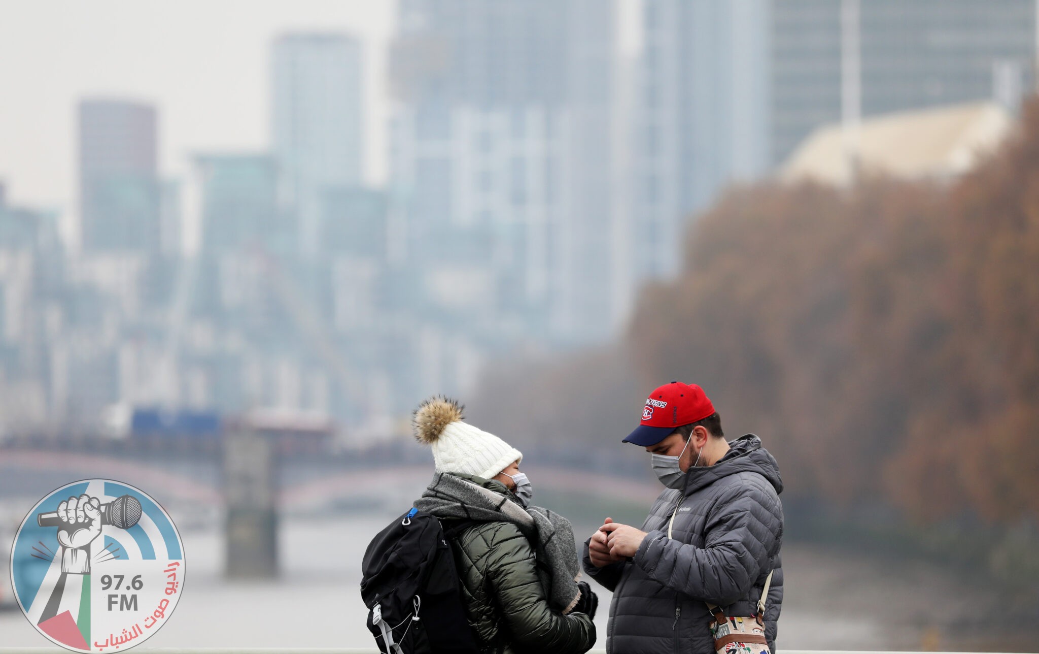
[[(683, 490), (660, 494), (642, 524), (649, 535), (631, 560), (584, 569), (613, 591), (610, 654), (709, 654), (714, 643), (704, 601), (726, 616), (753, 616), (773, 569), (765, 634), (775, 652), (782, 603), (782, 481), (775, 459), (748, 434), (714, 466), (691, 468)], [(667, 524), (677, 508), (673, 540)]]

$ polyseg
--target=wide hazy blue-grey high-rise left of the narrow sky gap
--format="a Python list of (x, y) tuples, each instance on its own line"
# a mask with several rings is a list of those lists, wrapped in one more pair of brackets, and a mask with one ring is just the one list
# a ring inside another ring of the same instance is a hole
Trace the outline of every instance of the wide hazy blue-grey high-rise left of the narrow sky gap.
[(391, 185), (449, 329), (502, 346), (611, 333), (612, 2), (401, 2)]

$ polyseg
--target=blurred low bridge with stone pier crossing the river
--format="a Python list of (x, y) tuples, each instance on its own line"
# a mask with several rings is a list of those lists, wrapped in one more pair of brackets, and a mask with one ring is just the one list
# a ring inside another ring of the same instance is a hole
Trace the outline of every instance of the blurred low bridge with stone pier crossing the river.
[[(366, 459), (364, 452), (289, 456), (276, 441), (247, 430), (229, 434), (221, 450), (211, 454), (8, 447), (0, 451), (0, 520), (17, 525), (23, 515), (20, 502), (72, 481), (113, 479), (151, 495), (178, 517), (182, 528), (222, 529), (229, 577), (274, 578), (281, 569), (283, 517), (406, 511), (428, 483), (433, 467), (428, 461), (409, 464), (402, 459)], [(525, 470), (536, 475), (543, 491), (579, 500), (595, 496), (648, 505), (659, 491), (656, 485), (586, 470)]]

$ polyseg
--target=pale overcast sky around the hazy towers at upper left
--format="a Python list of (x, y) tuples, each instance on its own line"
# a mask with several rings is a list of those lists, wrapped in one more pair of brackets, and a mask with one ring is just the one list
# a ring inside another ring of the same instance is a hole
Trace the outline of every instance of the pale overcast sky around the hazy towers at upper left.
[[(621, 54), (637, 47), (637, 1), (618, 2)], [(368, 139), (364, 177), (368, 184), (387, 180), (385, 69), (396, 2), (100, 0), (86, 5), (59, 0), (45, 7), (6, 0), (0, 7), (5, 8), (0, 60), (31, 53), (24, 67), (0, 67), (0, 180), (16, 204), (74, 215), (80, 100), (155, 106), (164, 175), (186, 175), (199, 151), (268, 150), (270, 47), (287, 33), (342, 33), (361, 41)]]

